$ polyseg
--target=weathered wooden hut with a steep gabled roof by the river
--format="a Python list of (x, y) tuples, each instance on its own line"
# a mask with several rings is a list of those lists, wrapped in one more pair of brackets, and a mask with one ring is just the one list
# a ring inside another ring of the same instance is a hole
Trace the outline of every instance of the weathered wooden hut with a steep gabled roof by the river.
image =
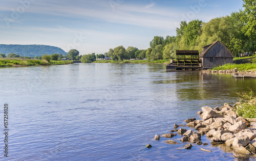
[(228, 48), (220, 41), (204, 46), (199, 55), (203, 69), (211, 69), (227, 63), (233, 63), (233, 57)]

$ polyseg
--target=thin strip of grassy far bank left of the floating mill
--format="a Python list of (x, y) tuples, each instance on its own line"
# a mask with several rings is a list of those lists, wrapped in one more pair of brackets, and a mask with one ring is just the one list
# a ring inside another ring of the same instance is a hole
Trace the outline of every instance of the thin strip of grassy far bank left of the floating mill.
[(121, 62), (115, 60), (102, 60), (93, 63), (115, 63), (115, 64), (169, 64), (169, 60), (147, 61), (147, 60), (123, 60)]

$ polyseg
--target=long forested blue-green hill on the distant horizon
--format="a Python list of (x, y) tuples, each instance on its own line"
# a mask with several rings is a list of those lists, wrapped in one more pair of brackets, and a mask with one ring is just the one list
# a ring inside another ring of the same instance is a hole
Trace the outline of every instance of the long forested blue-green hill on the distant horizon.
[(23, 57), (40, 57), (44, 54), (53, 55), (54, 53), (61, 53), (66, 55), (67, 52), (56, 46), (49, 45), (5, 45), (0, 44), (0, 53), (15, 53)]

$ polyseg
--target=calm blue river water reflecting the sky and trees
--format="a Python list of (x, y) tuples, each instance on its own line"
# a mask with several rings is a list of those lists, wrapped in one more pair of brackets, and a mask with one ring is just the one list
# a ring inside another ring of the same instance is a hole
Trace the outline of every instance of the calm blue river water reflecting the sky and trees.
[[(179, 135), (172, 138), (177, 145), (154, 136), (187, 118), (200, 119), (202, 106), (232, 104), (236, 92), (256, 91), (256, 79), (166, 72), (164, 65), (1, 68), (0, 75), (1, 118), (9, 105), (9, 160), (240, 160), (206, 137), (202, 142), (209, 145), (186, 150)], [(0, 137), (3, 149), (3, 132)]]

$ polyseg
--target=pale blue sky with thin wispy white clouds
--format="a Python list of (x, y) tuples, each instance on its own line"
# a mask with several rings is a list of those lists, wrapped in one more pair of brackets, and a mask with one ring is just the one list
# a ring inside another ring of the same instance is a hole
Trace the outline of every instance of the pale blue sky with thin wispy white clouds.
[(57, 46), (80, 55), (123, 45), (150, 47), (176, 36), (180, 21), (230, 15), (242, 0), (1, 0), (0, 44)]

